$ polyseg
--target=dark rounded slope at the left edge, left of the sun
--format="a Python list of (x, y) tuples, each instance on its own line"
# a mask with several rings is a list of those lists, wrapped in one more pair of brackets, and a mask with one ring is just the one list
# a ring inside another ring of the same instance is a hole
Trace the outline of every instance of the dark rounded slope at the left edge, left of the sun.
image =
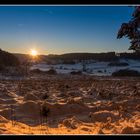
[(19, 64), (16, 56), (0, 49), (0, 66), (17, 66)]

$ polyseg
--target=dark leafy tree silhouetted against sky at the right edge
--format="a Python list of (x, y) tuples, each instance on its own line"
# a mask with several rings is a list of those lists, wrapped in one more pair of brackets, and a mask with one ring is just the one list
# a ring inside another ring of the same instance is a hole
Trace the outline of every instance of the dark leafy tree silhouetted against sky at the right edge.
[(140, 6), (134, 8), (131, 20), (121, 25), (117, 38), (127, 37), (131, 44), (129, 50), (140, 52)]

